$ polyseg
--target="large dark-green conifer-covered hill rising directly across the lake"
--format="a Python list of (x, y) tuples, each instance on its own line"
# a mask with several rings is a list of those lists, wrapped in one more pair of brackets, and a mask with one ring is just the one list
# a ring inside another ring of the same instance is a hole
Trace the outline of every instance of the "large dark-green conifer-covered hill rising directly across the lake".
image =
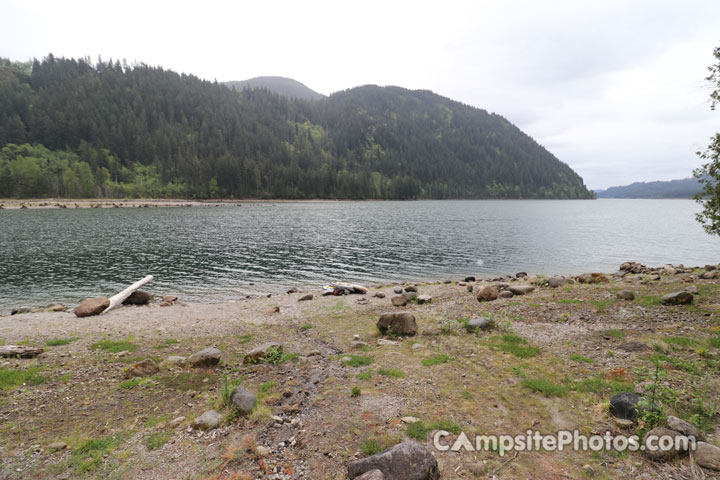
[(427, 91), (308, 102), (159, 67), (0, 60), (0, 196), (591, 198), (504, 118)]

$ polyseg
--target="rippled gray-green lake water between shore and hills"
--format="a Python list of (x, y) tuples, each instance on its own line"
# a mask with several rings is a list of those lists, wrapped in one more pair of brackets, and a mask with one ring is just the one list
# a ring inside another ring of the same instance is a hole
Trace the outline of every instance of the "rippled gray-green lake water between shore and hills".
[[(189, 301), (289, 285), (720, 262), (690, 200), (263, 203), (0, 211), (0, 311), (148, 290)], [(254, 285), (251, 285), (253, 283)]]

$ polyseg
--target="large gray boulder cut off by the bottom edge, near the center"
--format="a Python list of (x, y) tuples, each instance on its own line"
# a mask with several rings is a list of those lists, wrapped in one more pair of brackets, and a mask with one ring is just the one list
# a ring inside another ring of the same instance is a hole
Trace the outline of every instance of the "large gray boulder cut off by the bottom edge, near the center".
[[(371, 457), (347, 464), (350, 478), (380, 470), (385, 480), (438, 480), (438, 463), (430, 450), (419, 443), (406, 441)], [(372, 477), (371, 477), (372, 478)]]

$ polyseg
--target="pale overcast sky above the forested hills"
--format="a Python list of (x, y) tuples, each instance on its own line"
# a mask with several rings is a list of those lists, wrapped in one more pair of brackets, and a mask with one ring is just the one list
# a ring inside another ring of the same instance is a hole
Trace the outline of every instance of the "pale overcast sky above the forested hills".
[(716, 46), (719, 0), (0, 0), (2, 57), (429, 89), (505, 116), (590, 188), (690, 176), (720, 130)]

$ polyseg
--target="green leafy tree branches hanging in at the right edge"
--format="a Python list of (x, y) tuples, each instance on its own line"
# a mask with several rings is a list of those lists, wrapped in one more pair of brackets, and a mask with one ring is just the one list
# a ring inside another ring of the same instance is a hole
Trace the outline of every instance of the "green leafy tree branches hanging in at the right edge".
[[(715, 48), (713, 55), (717, 62), (708, 68), (710, 75), (705, 79), (711, 82), (713, 87), (710, 93), (711, 110), (715, 110), (720, 101), (720, 47)], [(720, 235), (720, 132), (710, 138), (710, 144), (705, 151), (697, 154), (706, 163), (693, 171), (693, 176), (703, 187), (694, 197), (703, 207), (696, 218), (707, 233)]]

